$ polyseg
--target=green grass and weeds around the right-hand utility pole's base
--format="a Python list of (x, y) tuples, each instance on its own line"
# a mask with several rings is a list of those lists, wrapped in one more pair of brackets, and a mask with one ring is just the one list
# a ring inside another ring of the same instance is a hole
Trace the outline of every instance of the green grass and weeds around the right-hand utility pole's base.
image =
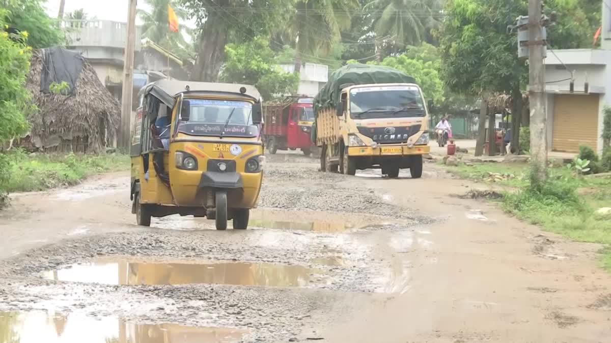
[[(611, 179), (576, 177), (565, 167), (550, 168), (548, 181), (531, 181), (529, 164), (485, 163), (447, 167), (455, 175), (485, 182), (488, 173), (511, 174), (515, 178), (496, 184), (516, 187), (505, 192), (500, 204), (504, 211), (533, 225), (579, 242), (606, 245), (601, 262), (611, 271), (611, 217), (595, 214), (611, 207)], [(490, 182), (488, 182), (490, 183)]]

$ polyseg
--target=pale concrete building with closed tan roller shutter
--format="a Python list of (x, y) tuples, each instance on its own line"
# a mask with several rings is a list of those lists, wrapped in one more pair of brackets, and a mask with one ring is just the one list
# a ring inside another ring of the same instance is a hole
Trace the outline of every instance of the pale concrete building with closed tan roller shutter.
[(588, 145), (602, 152), (603, 111), (611, 106), (611, 9), (601, 7), (600, 49), (547, 52), (547, 144), (551, 151), (576, 153), (579, 145)]

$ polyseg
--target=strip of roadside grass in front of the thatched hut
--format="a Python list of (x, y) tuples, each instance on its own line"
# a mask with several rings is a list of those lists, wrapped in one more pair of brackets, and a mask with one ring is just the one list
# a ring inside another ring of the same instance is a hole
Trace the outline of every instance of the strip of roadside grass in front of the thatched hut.
[(6, 170), (0, 178), (2, 192), (32, 192), (78, 184), (87, 176), (130, 168), (125, 154), (34, 154), (23, 150), (2, 155)]

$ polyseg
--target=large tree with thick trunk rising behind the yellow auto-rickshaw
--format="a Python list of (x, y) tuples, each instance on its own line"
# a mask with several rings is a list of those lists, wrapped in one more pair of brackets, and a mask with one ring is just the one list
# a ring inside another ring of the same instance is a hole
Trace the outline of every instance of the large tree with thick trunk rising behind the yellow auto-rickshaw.
[(181, 4), (197, 21), (194, 81), (218, 80), (227, 43), (269, 37), (286, 28), (295, 13), (294, 0), (181, 0)]

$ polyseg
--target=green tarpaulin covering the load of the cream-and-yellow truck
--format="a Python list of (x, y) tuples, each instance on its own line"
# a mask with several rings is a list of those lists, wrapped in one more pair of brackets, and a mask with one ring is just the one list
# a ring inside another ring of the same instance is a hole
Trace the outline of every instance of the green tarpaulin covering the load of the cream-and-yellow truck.
[(344, 84), (412, 84), (414, 78), (395, 68), (382, 65), (349, 64), (335, 70), (329, 81), (324, 85), (316, 98), (314, 98), (314, 114), (318, 117), (318, 110), (325, 107), (335, 107), (339, 101)]

